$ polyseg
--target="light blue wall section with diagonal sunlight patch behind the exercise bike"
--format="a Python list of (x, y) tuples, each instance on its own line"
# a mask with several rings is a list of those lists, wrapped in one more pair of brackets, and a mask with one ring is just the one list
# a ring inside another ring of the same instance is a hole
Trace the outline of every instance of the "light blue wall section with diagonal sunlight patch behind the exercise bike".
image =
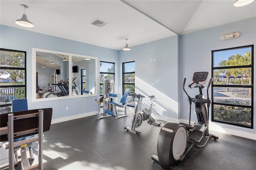
[[(178, 119), (178, 36), (156, 40), (118, 51), (119, 92), (122, 92), (122, 63), (135, 61), (135, 92), (156, 96), (154, 111)], [(151, 62), (153, 59), (153, 62)], [(156, 62), (154, 62), (156, 59)], [(122, 94), (119, 94), (122, 95)]]

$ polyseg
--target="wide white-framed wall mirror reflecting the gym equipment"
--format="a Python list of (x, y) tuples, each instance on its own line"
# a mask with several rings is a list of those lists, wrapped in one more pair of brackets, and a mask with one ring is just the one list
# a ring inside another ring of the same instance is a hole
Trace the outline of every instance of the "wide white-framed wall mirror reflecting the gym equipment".
[(97, 57), (37, 48), (32, 55), (33, 101), (97, 96)]

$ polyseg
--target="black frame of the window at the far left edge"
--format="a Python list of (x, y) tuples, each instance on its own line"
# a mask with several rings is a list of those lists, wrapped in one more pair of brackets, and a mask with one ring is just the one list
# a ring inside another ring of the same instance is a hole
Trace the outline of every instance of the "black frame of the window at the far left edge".
[[(4, 49), (0, 48), (0, 51), (11, 51), (11, 52), (18, 52), (18, 53), (24, 53), (24, 67), (2, 67), (1, 69), (12, 69), (12, 70), (24, 70), (24, 85), (1, 85), (1, 88), (8, 88), (8, 87), (24, 87), (24, 98), (27, 97), (27, 52), (26, 51), (19, 51), (19, 50), (14, 50), (14, 49)], [(12, 106), (12, 103), (6, 103), (6, 104), (1, 104), (0, 108), (2, 107), (10, 107)]]

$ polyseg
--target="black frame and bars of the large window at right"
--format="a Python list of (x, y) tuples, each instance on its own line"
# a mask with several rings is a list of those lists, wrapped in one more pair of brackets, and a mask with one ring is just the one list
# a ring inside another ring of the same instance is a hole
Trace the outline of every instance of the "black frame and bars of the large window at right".
[[(224, 66), (224, 67), (214, 67), (214, 52), (218, 52), (218, 51), (227, 51), (227, 50), (232, 50), (232, 49), (242, 49), (242, 48), (251, 48), (251, 57), (252, 57), (252, 61), (251, 61), (251, 65), (237, 65), (237, 66)], [(218, 70), (218, 69), (239, 69), (239, 68), (251, 68), (251, 85), (217, 85), (214, 84), (214, 82), (212, 82), (212, 122), (218, 122), (218, 123), (224, 123), (224, 124), (228, 124), (228, 125), (234, 125), (234, 126), (238, 126), (238, 127), (245, 127), (245, 128), (254, 128), (254, 114), (253, 114), (253, 98), (254, 98), (254, 89), (253, 89), (253, 81), (254, 81), (254, 45), (245, 45), (245, 46), (240, 46), (240, 47), (232, 47), (232, 48), (226, 48), (226, 49), (218, 49), (218, 50), (212, 50), (212, 77), (214, 77), (214, 70)], [(214, 102), (214, 87), (242, 87), (242, 88), (251, 88), (251, 105), (236, 105), (236, 104), (229, 104), (229, 103), (219, 103), (219, 102)], [(230, 121), (224, 121), (224, 120), (217, 120), (214, 119), (214, 105), (222, 105), (222, 106), (232, 106), (232, 107), (242, 107), (242, 108), (249, 108), (251, 109), (251, 125), (243, 125), (243, 124), (238, 124), (238, 123), (234, 123), (234, 122), (230, 122)]]

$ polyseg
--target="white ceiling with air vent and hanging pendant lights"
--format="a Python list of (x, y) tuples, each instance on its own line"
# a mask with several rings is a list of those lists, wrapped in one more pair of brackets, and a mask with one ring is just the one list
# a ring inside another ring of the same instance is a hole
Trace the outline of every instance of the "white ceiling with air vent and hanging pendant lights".
[[(0, 24), (120, 50), (154, 40), (256, 17), (256, 1), (236, 0), (0, 0)], [(15, 24), (26, 9), (33, 28)], [(89, 23), (98, 19), (103, 28)], [(235, 30), (234, 31), (239, 31)], [(221, 35), (220, 35), (221, 36)]]

